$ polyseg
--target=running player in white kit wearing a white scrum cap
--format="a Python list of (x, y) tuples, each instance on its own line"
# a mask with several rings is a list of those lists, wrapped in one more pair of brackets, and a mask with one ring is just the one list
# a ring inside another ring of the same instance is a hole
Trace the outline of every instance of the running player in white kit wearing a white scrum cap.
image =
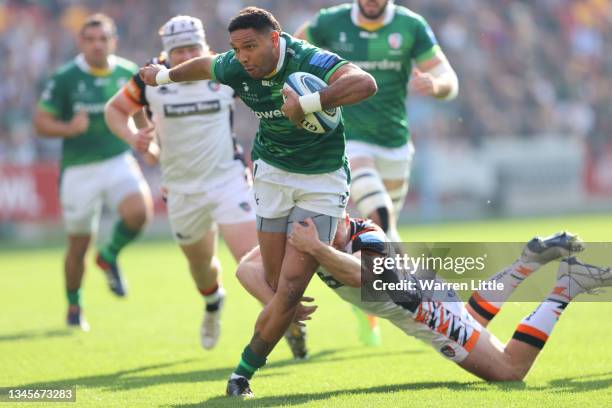
[[(154, 64), (172, 67), (210, 53), (197, 18), (173, 17), (159, 34), (164, 53)], [(206, 303), (200, 336), (206, 349), (218, 341), (225, 297), (217, 225), (236, 261), (257, 244), (250, 178), (232, 134), (233, 104), (234, 91), (215, 81), (149, 87), (137, 74), (105, 110), (116, 135), (148, 161), (161, 162), (172, 233)], [(130, 118), (143, 108), (153, 126), (137, 131)]]

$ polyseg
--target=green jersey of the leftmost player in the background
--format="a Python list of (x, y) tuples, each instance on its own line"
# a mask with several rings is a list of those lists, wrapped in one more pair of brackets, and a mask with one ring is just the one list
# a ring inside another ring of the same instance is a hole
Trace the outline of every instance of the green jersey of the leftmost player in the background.
[(106, 126), (104, 105), (138, 72), (138, 66), (116, 56), (110, 56), (109, 63), (108, 72), (94, 74), (79, 55), (53, 74), (42, 93), (38, 106), (57, 119), (70, 121), (80, 110), (89, 114), (85, 133), (63, 139), (62, 169), (105, 160), (130, 148)]

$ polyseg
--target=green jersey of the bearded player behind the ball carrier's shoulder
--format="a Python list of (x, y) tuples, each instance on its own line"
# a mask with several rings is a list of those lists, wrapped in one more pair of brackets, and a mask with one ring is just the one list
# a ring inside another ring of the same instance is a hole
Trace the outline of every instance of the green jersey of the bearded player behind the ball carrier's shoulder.
[(420, 15), (389, 4), (384, 25), (368, 31), (357, 25), (356, 5), (321, 10), (306, 30), (308, 41), (337, 53), (369, 72), (378, 93), (343, 109), (346, 138), (399, 147), (410, 138), (406, 96), (413, 61), (433, 57), (436, 38)]

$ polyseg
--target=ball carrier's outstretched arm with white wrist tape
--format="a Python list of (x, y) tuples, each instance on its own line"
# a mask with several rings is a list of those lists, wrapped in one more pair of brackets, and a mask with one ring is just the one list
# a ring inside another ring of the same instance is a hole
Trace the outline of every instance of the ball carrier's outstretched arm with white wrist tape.
[(212, 56), (190, 59), (172, 69), (162, 65), (147, 65), (140, 68), (140, 77), (145, 84), (158, 86), (171, 82), (189, 82), (212, 79)]

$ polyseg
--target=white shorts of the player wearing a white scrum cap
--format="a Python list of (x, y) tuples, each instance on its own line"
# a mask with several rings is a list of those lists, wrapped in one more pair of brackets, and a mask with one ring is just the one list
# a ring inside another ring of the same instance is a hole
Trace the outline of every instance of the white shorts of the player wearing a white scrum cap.
[(180, 245), (199, 241), (215, 223), (255, 223), (253, 192), (244, 177), (242, 164), (240, 167), (241, 172), (231, 172), (235, 177), (205, 192), (183, 194), (171, 189), (168, 191), (168, 218), (172, 235)]

